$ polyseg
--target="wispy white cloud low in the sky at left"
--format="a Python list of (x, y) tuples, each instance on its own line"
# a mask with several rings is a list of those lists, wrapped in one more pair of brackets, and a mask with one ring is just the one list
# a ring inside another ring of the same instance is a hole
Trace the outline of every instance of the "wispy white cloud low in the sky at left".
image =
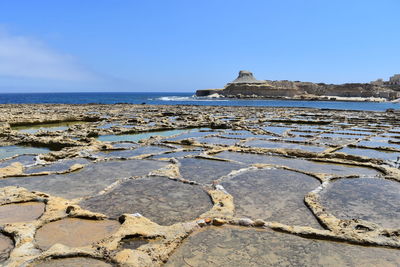
[(10, 35), (1, 29), (0, 77), (70, 82), (98, 79), (73, 56), (59, 53), (33, 38)]

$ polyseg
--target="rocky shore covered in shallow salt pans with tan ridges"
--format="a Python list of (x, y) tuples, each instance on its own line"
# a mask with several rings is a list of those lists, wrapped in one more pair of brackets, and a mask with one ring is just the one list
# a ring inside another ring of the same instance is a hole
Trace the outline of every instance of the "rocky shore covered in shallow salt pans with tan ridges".
[(398, 116), (0, 105), (0, 266), (398, 266)]

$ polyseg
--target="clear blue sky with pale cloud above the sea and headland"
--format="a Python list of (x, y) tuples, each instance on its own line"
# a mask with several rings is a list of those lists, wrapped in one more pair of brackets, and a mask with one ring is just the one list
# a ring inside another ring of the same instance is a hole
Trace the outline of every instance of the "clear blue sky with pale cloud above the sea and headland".
[(194, 92), (400, 73), (398, 0), (4, 0), (0, 93)]

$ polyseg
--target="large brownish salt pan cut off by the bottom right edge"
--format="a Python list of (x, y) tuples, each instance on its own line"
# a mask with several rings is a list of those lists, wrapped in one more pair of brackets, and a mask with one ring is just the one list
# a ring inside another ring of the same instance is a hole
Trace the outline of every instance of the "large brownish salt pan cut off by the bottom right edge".
[(400, 251), (306, 239), (271, 230), (203, 228), (165, 266), (397, 266)]

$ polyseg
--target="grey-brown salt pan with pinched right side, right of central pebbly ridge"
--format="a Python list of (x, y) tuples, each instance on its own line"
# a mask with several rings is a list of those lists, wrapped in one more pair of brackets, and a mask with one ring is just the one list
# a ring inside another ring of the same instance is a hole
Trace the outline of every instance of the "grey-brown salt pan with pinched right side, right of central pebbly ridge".
[(237, 217), (317, 228), (304, 196), (319, 184), (313, 177), (282, 169), (248, 171), (222, 183), (233, 195)]

